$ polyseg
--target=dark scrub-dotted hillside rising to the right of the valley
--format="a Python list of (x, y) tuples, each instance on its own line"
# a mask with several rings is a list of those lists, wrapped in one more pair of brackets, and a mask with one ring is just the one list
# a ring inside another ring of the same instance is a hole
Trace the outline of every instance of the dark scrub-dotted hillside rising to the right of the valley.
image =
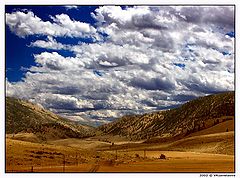
[(234, 112), (234, 92), (226, 92), (200, 97), (175, 109), (124, 116), (98, 129), (133, 140), (186, 136), (232, 120)]

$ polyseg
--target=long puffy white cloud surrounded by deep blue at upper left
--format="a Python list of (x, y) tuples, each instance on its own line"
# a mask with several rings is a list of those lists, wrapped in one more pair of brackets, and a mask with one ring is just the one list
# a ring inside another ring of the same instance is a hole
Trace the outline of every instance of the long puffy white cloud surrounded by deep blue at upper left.
[(48, 35), (98, 39), (96, 29), (88, 23), (72, 20), (66, 14), (51, 16), (51, 19), (53, 22), (43, 21), (31, 11), (6, 13), (6, 24), (19, 37)]

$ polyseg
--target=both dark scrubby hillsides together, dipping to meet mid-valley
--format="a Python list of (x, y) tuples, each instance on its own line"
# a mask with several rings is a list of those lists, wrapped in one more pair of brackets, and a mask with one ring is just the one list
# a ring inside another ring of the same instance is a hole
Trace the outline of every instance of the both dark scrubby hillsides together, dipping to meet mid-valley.
[(233, 120), (234, 113), (234, 92), (226, 92), (199, 97), (174, 109), (123, 116), (93, 128), (62, 118), (30, 102), (6, 97), (6, 133), (33, 133), (41, 140), (86, 138), (96, 133), (119, 135), (130, 140), (184, 137)]

